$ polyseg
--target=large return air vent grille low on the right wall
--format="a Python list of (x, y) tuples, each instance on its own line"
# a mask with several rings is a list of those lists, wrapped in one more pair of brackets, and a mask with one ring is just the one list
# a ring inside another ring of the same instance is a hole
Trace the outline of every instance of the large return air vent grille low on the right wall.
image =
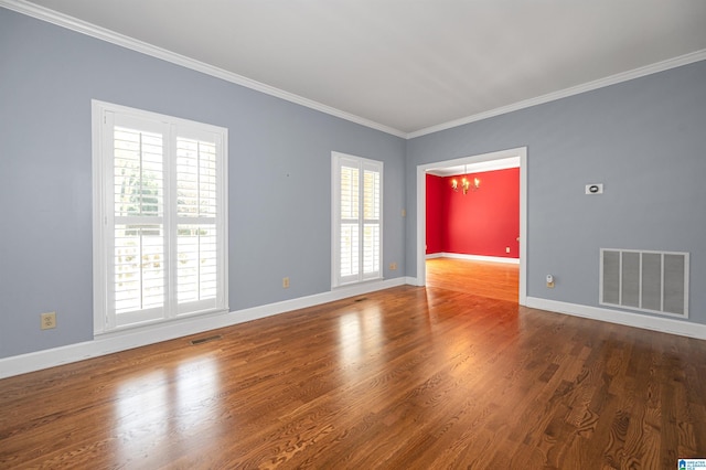
[(600, 303), (688, 318), (688, 253), (601, 248)]

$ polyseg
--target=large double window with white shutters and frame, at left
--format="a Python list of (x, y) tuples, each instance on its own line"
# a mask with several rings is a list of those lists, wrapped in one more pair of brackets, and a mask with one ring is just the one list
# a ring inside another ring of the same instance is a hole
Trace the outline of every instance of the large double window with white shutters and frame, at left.
[(93, 102), (94, 331), (227, 310), (227, 130)]

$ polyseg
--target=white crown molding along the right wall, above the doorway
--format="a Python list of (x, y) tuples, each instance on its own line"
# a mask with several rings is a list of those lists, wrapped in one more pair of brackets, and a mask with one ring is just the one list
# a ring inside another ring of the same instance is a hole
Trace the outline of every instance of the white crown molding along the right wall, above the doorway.
[(536, 98), (525, 99), (522, 102), (513, 103), (512, 105), (502, 106), (500, 108), (491, 109), (489, 111), (479, 113), (477, 115), (468, 116), (460, 119), (454, 119), (437, 126), (419, 129), (414, 132), (407, 133), (407, 139), (414, 139), (415, 137), (426, 136), (428, 133), (438, 132), (440, 130), (447, 130), (454, 127), (463, 126), (470, 122), (488, 119), (494, 116), (504, 115), (507, 113), (516, 111), (520, 109), (528, 108), (531, 106), (542, 105), (544, 103), (555, 102), (557, 99), (566, 98), (569, 96), (578, 95), (581, 93), (590, 92), (606, 86), (616, 85), (622, 82), (628, 82), (633, 78), (639, 78), (645, 75), (655, 74), (657, 72), (667, 71), (670, 68), (681, 67), (682, 65), (693, 64), (706, 60), (706, 50), (695, 51), (688, 54), (680, 55), (678, 57), (668, 58), (666, 61), (657, 62), (655, 64), (645, 65), (643, 67), (634, 68), (632, 71), (622, 72), (616, 75), (611, 75), (605, 78), (599, 78), (593, 82), (588, 82), (582, 85), (573, 86), (570, 88), (560, 89), (558, 92), (548, 93), (546, 95), (537, 96)]

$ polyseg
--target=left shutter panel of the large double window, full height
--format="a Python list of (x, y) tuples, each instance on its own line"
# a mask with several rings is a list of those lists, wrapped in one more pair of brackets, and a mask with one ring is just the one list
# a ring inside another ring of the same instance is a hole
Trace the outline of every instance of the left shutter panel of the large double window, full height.
[(107, 116), (104, 126), (113, 207), (113, 217), (107, 217), (113, 222), (107, 300), (115, 328), (164, 316), (164, 137), (169, 128), (115, 114)]

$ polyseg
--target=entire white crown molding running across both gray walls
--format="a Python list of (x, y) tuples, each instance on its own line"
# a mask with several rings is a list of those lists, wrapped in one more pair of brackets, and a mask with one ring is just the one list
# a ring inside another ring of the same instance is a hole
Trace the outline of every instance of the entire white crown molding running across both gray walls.
[(706, 60), (706, 50), (694, 51), (688, 54), (680, 55), (677, 57), (667, 58), (666, 61), (657, 62), (655, 64), (645, 65), (643, 67), (634, 68), (632, 71), (622, 72), (616, 75), (611, 75), (605, 78), (599, 78), (592, 82), (588, 82), (581, 85), (573, 86), (569, 88), (560, 89), (558, 92), (549, 93), (546, 95), (537, 96), (535, 98), (524, 99), (522, 102), (513, 103), (500, 108), (490, 109), (488, 111), (471, 115), (461, 119), (454, 119), (448, 122), (430, 126), (424, 129), (416, 130), (414, 132), (404, 132), (399, 129), (395, 129), (389, 126), (385, 126), (373, 120), (352, 115), (346, 111), (333, 108), (313, 99), (304, 98), (293, 93), (285, 92), (274, 86), (266, 85), (260, 82), (244, 77), (233, 72), (224, 71), (223, 68), (214, 67), (213, 65), (205, 64), (203, 62), (195, 61), (184, 55), (176, 54), (174, 52), (148, 44), (142, 41), (126, 36), (115, 31), (110, 31), (105, 28), (97, 26), (83, 20), (69, 17), (64, 13), (60, 13), (54, 10), (50, 10), (45, 7), (39, 7), (29, 2), (20, 0), (0, 0), (0, 7), (8, 10), (15, 11), (18, 13), (25, 14), (28, 17), (35, 18), (38, 20), (46, 21), (47, 23), (56, 24), (57, 26), (66, 28), (77, 33), (86, 34), (92, 38), (96, 38), (101, 41), (109, 42), (132, 51), (140, 52), (152, 57), (161, 58), (162, 61), (170, 62), (172, 64), (181, 65), (185, 68), (191, 68), (196, 72), (211, 75), (226, 82), (234, 83), (236, 85), (244, 86), (246, 88), (254, 89), (256, 92), (264, 93), (266, 95), (275, 96), (277, 98), (285, 99), (290, 103), (295, 103), (311, 109), (315, 109), (321, 113), (325, 113), (331, 116), (339, 117), (341, 119), (349, 120), (351, 122), (360, 124), (361, 126), (370, 127), (403, 139), (414, 139), (416, 137), (426, 136), (428, 133), (438, 132), (440, 130), (451, 129), (453, 127), (463, 126), (470, 122), (488, 119), (490, 117), (504, 115), (507, 113), (516, 111), (520, 109), (528, 108), (531, 106), (542, 105), (544, 103), (554, 102), (557, 99), (566, 98), (568, 96), (578, 95), (580, 93), (590, 92), (593, 89), (602, 88), (606, 86), (614, 85), (618, 83), (627, 82), (633, 78), (639, 78), (645, 75), (655, 74), (657, 72), (667, 71), (670, 68), (681, 67), (682, 65), (688, 65), (694, 62)]

